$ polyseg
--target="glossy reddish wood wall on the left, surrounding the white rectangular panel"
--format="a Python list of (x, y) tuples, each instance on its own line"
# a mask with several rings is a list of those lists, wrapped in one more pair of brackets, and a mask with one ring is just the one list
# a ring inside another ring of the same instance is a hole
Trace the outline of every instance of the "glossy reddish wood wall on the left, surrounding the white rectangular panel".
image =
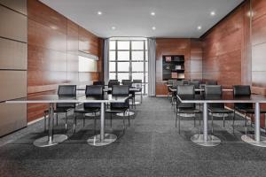
[[(99, 72), (78, 72), (78, 51), (98, 56), (101, 39), (37, 0), (27, 0), (27, 95), (54, 93), (59, 84), (90, 84)], [(46, 104), (28, 104), (27, 121), (43, 117)]]

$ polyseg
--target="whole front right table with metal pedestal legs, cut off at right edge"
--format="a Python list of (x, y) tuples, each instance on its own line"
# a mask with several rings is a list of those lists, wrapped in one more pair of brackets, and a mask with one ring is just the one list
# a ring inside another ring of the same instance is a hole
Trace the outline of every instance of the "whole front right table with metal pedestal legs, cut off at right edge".
[(254, 146), (266, 147), (266, 138), (261, 136), (260, 122), (260, 104), (266, 103), (266, 96), (251, 95), (251, 96), (233, 96), (231, 92), (226, 92), (223, 96), (178, 96), (181, 103), (186, 104), (203, 104), (203, 134), (192, 135), (192, 142), (202, 146), (216, 146), (221, 143), (221, 140), (215, 135), (208, 135), (207, 132), (207, 104), (223, 103), (251, 103), (254, 104), (254, 135), (242, 135), (241, 139), (244, 142)]

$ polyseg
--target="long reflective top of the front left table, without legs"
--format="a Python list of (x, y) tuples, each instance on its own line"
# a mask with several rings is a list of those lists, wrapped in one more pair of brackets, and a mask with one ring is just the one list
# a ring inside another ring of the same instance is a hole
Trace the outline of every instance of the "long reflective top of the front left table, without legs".
[(18, 99), (8, 100), (7, 104), (52, 104), (52, 103), (123, 103), (129, 96), (85, 96), (77, 95), (73, 97), (58, 95), (27, 96)]

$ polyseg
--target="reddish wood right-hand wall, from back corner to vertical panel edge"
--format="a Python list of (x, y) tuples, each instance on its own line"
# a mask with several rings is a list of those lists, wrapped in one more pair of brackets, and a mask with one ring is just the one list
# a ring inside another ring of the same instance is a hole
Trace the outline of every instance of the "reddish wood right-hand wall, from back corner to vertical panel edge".
[(249, 6), (247, 1), (202, 38), (204, 80), (216, 80), (225, 87), (249, 83), (249, 24), (246, 16), (249, 9), (246, 6)]

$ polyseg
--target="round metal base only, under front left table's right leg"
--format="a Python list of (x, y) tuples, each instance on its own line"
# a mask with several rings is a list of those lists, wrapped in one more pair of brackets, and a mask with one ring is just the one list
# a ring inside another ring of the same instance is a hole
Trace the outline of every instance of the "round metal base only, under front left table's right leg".
[(117, 139), (116, 135), (113, 134), (105, 134), (105, 139), (103, 141), (101, 141), (100, 139), (100, 135), (94, 135), (92, 137), (90, 137), (87, 142), (91, 145), (91, 146), (106, 146), (112, 142), (115, 142), (115, 140)]

